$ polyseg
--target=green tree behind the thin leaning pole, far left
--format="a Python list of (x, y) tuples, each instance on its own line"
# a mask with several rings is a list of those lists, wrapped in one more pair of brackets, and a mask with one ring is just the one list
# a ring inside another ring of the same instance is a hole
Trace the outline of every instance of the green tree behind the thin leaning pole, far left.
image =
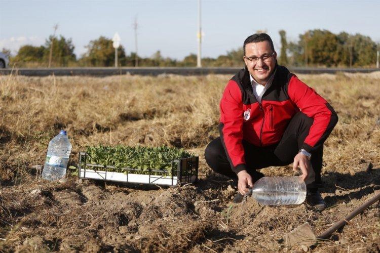
[(44, 61), (49, 61), (50, 47), (53, 41), (52, 66), (68, 66), (70, 62), (75, 62), (77, 57), (74, 54), (74, 45), (71, 38), (66, 39), (60, 35), (60, 38), (50, 35), (45, 42)]

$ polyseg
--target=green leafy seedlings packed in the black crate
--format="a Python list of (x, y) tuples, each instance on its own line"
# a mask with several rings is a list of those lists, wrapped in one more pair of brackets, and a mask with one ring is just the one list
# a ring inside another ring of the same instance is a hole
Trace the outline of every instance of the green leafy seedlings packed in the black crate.
[[(87, 154), (91, 157), (91, 162), (105, 166), (115, 166), (115, 172), (128, 171), (122, 168), (133, 168), (139, 171), (132, 171), (134, 174), (148, 174), (149, 170), (163, 170), (165, 174), (172, 173), (172, 161), (178, 158), (193, 157), (194, 155), (183, 149), (160, 147), (128, 147), (128, 146), (102, 146), (87, 147)], [(155, 175), (154, 173), (151, 173)], [(159, 175), (162, 175), (160, 173)]]

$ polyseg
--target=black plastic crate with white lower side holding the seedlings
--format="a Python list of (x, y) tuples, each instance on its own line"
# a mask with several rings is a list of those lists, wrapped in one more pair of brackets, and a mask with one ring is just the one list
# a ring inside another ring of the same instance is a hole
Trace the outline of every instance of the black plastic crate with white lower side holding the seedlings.
[[(78, 177), (110, 182), (157, 184), (177, 186), (181, 183), (195, 183), (198, 181), (198, 156), (173, 159), (170, 164), (172, 173), (157, 168), (148, 168), (143, 171), (139, 168), (116, 168), (106, 164), (94, 164), (93, 159), (86, 152), (79, 153)], [(118, 170), (121, 172), (113, 172)]]

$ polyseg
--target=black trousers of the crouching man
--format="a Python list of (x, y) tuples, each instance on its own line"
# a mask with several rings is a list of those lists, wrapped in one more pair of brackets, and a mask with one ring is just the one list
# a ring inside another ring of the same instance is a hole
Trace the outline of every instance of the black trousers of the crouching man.
[[(284, 166), (293, 162), (294, 156), (298, 153), (303, 141), (309, 134), (310, 126), (314, 119), (306, 116), (302, 112), (296, 113), (290, 120), (282, 139), (278, 144), (257, 147), (243, 140), (245, 151), (245, 161), (247, 172), (256, 181), (262, 177), (256, 170), (268, 166)], [(307, 187), (316, 189), (321, 186), (323, 144), (313, 152), (311, 164), (315, 172), (314, 179), (309, 178)], [(236, 179), (237, 175), (232, 171), (230, 162), (222, 146), (220, 137), (211, 141), (205, 150), (207, 164), (216, 173), (229, 178)]]

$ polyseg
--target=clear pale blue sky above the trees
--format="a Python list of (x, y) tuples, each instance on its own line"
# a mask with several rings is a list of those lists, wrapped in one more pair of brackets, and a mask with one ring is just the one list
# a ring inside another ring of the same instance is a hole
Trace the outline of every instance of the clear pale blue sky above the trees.
[[(278, 31), (297, 40), (309, 29), (361, 33), (380, 42), (380, 1), (202, 0), (202, 57), (217, 57), (241, 47), (257, 30), (267, 30), (280, 50)], [(0, 0), (0, 50), (43, 45), (57, 34), (71, 38), (75, 54), (86, 52), (100, 35), (121, 37), (126, 53), (135, 51), (132, 23), (138, 22), (138, 54), (183, 59), (197, 53), (198, 0), (10, 1)]]

